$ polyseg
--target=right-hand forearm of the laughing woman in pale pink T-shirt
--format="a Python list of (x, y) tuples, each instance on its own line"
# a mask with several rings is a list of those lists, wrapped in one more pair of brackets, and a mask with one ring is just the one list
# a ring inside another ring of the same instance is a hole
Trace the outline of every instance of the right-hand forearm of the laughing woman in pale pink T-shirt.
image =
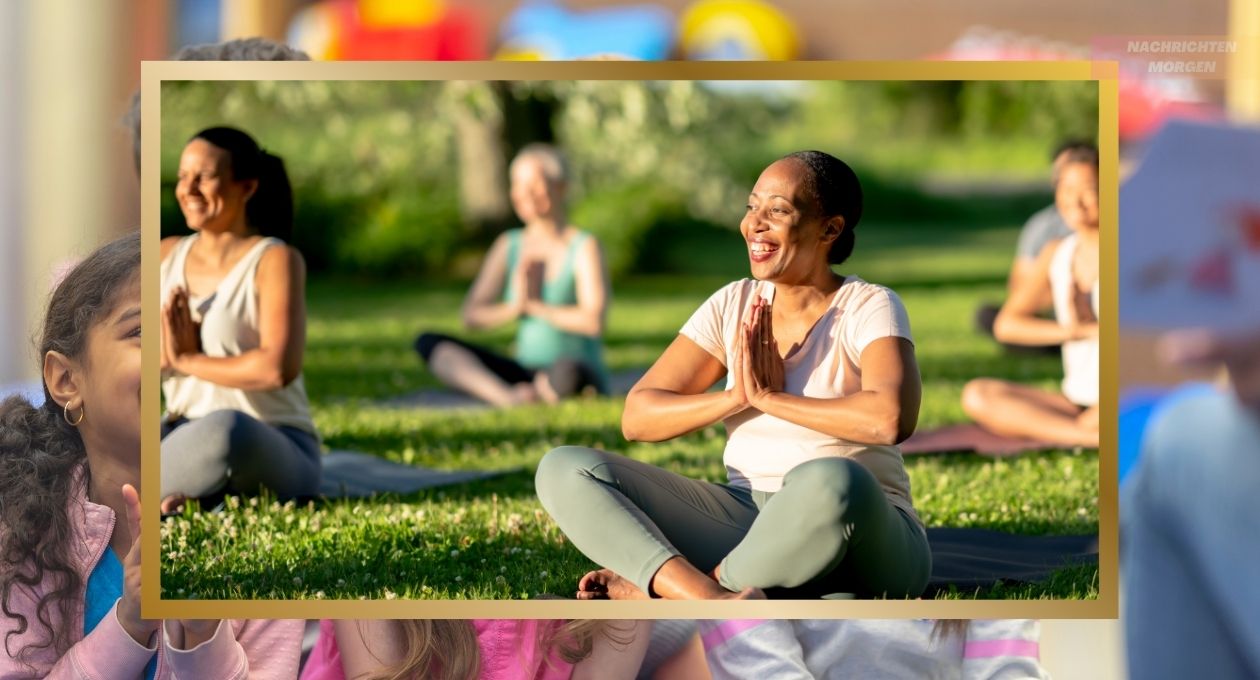
[(917, 408), (905, 408), (896, 395), (858, 392), (832, 399), (774, 392), (760, 399), (762, 413), (840, 439), (892, 446), (915, 432)]

